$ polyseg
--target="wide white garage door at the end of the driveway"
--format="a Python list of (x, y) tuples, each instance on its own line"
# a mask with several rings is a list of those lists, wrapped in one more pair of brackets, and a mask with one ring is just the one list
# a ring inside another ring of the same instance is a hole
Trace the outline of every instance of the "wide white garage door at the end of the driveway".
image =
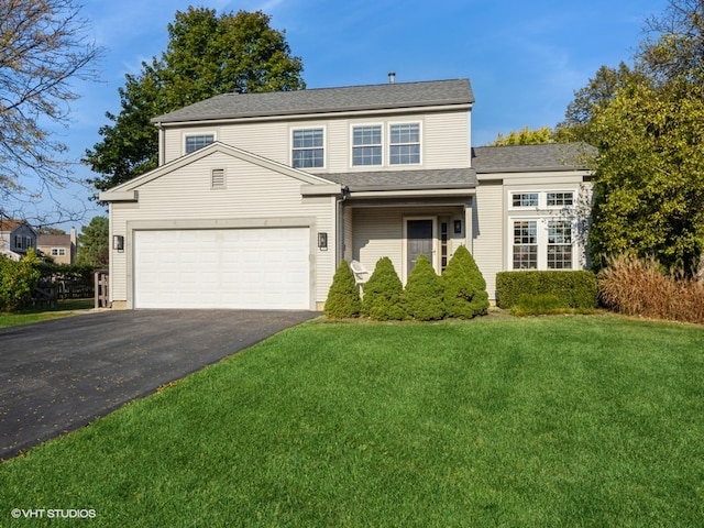
[(134, 232), (135, 308), (310, 308), (308, 228)]

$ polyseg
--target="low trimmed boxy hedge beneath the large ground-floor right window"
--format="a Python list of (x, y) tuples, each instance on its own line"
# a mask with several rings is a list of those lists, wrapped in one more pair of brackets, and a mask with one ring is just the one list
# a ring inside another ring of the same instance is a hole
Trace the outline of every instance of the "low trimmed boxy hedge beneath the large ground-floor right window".
[(496, 274), (496, 306), (512, 308), (521, 296), (554, 296), (564, 308), (598, 306), (596, 275), (585, 271), (499, 272)]

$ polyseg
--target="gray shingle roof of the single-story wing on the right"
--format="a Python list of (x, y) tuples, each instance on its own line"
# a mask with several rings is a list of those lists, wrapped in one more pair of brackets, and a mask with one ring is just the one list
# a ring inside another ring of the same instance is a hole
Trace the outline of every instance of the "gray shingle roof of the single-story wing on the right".
[(582, 169), (585, 157), (595, 153), (596, 148), (585, 143), (476, 146), (472, 148), (472, 167), (480, 174)]

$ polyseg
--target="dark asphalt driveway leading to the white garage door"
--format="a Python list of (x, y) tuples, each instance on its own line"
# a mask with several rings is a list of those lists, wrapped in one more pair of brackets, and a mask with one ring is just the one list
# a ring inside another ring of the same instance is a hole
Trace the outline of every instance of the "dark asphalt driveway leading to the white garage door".
[(123, 310), (0, 329), (0, 460), (317, 315)]

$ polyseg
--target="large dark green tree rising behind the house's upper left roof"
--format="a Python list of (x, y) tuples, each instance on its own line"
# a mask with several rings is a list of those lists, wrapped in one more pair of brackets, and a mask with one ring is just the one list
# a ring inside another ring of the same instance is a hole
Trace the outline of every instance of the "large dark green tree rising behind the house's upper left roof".
[(142, 63), (119, 89), (121, 110), (88, 150), (84, 163), (99, 174), (90, 182), (106, 190), (156, 167), (158, 131), (152, 118), (233, 90), (260, 92), (305, 88), (302, 63), (292, 56), (285, 32), (261, 11), (218, 15), (212, 9), (177, 11), (168, 24), (168, 46)]

